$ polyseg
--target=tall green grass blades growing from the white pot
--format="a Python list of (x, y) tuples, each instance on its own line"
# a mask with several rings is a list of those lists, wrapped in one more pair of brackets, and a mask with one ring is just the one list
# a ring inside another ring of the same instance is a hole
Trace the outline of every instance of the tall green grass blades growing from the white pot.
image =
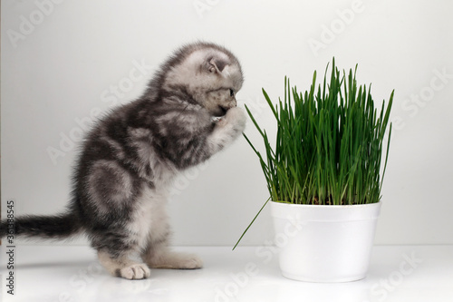
[(246, 107), (263, 138), (265, 154), (244, 136), (258, 156), (270, 200), (316, 205), (381, 200), (391, 123), (382, 175), (381, 159), (393, 92), (387, 106), (382, 102), (378, 112), (371, 97), (371, 85), (357, 86), (357, 66), (353, 72), (351, 69), (348, 74), (340, 73), (333, 59), (330, 78), (328, 67), (323, 83), (316, 88), (314, 72), (310, 90), (304, 93), (298, 93), (285, 78), (284, 101), (275, 105), (263, 89), (278, 127), (275, 147)]

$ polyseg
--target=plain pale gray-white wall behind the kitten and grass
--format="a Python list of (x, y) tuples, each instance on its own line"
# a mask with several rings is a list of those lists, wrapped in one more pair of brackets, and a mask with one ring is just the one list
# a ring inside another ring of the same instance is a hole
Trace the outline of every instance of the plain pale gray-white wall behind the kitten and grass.
[[(239, 58), (240, 104), (271, 133), (261, 88), (276, 102), (288, 75), (305, 90), (333, 56), (341, 69), (359, 64), (378, 104), (395, 89), (376, 243), (453, 244), (452, 11), (448, 0), (2, 1), (2, 208), (14, 199), (18, 214), (62, 211), (91, 114), (138, 97), (175, 48), (206, 40)], [(260, 143), (251, 122), (246, 133)], [(267, 194), (241, 138), (178, 181), (173, 243), (234, 245)], [(267, 210), (244, 245), (272, 239)]]

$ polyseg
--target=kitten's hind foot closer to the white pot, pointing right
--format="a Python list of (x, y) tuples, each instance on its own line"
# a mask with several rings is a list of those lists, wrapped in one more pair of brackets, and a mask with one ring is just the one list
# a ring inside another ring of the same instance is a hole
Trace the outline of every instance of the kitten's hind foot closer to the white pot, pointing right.
[(149, 265), (149, 268), (203, 268), (203, 261), (197, 255), (171, 251), (167, 240), (151, 243), (141, 258)]

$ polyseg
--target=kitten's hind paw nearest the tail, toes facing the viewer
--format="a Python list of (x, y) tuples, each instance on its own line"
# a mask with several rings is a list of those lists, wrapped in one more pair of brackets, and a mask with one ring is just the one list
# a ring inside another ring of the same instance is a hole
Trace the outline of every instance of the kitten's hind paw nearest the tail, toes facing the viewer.
[(150, 270), (145, 263), (132, 261), (127, 256), (113, 257), (105, 250), (98, 250), (98, 258), (101, 265), (106, 268), (112, 276), (126, 279), (149, 278)]

